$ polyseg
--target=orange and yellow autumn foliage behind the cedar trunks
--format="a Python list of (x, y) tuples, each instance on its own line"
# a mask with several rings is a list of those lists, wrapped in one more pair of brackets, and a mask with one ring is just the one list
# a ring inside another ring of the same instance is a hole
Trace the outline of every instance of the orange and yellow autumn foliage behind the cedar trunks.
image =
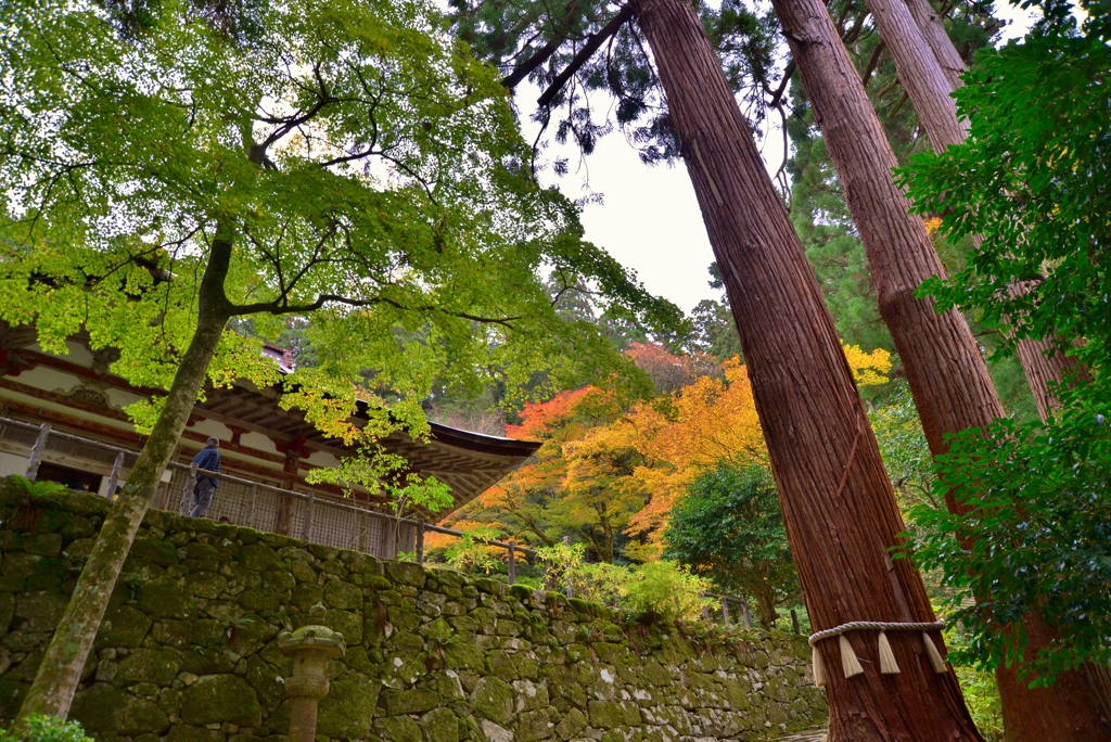
[[(887, 351), (844, 352), (858, 384), (888, 380)], [(659, 555), (668, 513), (700, 473), (719, 462), (765, 461), (748, 370), (735, 357), (707, 368), (705, 359), (661, 345), (637, 344), (629, 353), (658, 389), (683, 383), (625, 409), (594, 387), (526, 405), (521, 424), (507, 433), (543, 445), (459, 517), (547, 544), (578, 533), (603, 561), (612, 561), (623, 532), (631, 537), (624, 554), (647, 561)]]

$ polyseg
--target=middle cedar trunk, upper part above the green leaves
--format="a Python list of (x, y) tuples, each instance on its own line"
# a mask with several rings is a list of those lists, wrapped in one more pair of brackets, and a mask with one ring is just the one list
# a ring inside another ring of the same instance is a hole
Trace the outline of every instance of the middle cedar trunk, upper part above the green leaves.
[[(792, 58), (825, 136), (875, 281), (880, 314), (899, 351), (927, 442), (1003, 414), (964, 317), (939, 314), (915, 291), (945, 269), (891, 174), (898, 166), (868, 93), (819, 0), (773, 0)], [(929, 53), (929, 49), (927, 49)]]

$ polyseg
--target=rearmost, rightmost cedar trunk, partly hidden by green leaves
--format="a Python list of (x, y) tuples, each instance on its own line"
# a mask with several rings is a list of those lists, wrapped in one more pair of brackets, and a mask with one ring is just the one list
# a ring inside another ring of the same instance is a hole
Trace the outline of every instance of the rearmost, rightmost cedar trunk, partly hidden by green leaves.
[[(940, 23), (929, 0), (868, 0), (880, 36), (891, 50), (899, 73), (914, 104), (914, 112), (930, 138), (934, 152), (960, 144), (968, 136), (968, 122), (957, 118), (950, 93), (963, 84), (965, 67)], [(1022, 287), (1014, 287), (1022, 291)], [(1052, 349), (1045, 340), (1020, 340), (1019, 361), (1042, 420), (1057, 404), (1050, 384), (1065, 383), (1070, 377), (1087, 377), (1087, 370)]]

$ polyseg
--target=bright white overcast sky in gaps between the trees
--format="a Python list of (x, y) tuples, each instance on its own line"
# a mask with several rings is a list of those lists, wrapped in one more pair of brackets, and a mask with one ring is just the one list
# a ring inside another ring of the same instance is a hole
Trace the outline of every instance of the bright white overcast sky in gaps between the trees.
[[(1029, 12), (1005, 2), (998, 3), (997, 14), (1011, 21), (1003, 31), (1003, 41), (1023, 36), (1031, 24)], [(520, 86), (521, 110), (531, 112), (538, 96), (537, 88)], [(534, 132), (534, 126), (527, 123), (526, 134)], [(702, 299), (718, 297), (719, 292), (708, 284), (707, 268), (713, 262), (713, 252), (682, 163), (644, 166), (620, 133), (599, 142), (583, 163), (588, 170), (577, 171), (577, 154), (571, 150), (565, 154), (571, 172), (554, 182), (568, 197), (578, 199), (587, 194), (580, 187), (583, 176), (589, 174), (590, 190), (603, 197), (602, 203), (583, 209), (588, 240), (635, 271), (649, 291), (670, 299), (685, 312)], [(782, 157), (777, 128), (765, 137), (764, 144), (764, 161), (771, 172), (779, 168)], [(551, 173), (548, 176), (551, 181)]]

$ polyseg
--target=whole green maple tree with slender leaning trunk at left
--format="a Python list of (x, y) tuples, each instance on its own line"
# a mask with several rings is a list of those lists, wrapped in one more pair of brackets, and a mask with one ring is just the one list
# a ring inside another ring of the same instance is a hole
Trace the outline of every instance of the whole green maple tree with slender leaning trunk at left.
[(348, 441), (420, 435), (433, 379), (516, 390), (624, 368), (554, 312), (544, 271), (678, 323), (537, 188), (497, 74), (443, 28), (420, 1), (4, 6), (0, 318), (48, 350), (86, 330), (119, 349), (113, 372), (167, 390), (132, 411), (147, 443), (23, 716), (64, 716), (206, 382), (276, 381), (232, 318), (262, 334), (311, 318), (317, 363), (282, 403)]

